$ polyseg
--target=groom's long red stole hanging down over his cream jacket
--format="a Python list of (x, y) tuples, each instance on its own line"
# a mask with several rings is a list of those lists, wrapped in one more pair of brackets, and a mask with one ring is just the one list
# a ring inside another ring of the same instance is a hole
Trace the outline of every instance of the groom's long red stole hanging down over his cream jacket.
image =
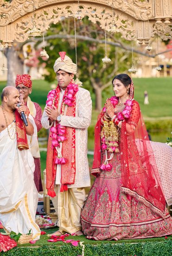
[[(63, 103), (68, 92), (68, 88), (66, 88), (64, 92), (64, 97), (61, 105), (61, 114)], [(58, 106), (59, 101), (59, 93), (60, 86), (57, 85), (56, 94), (54, 98), (54, 105)], [(73, 95), (74, 104), (72, 106), (68, 106), (66, 116), (75, 117), (76, 110), (76, 93)], [(67, 190), (68, 184), (75, 183), (75, 173), (76, 173), (76, 161), (75, 161), (75, 131), (76, 129), (73, 127), (66, 127), (66, 137), (67, 139), (63, 142), (62, 146), (62, 154), (65, 159), (67, 159), (65, 164), (61, 165), (61, 189), (60, 191)], [(54, 191), (55, 179), (56, 179), (56, 169), (57, 164), (55, 160), (57, 158), (57, 150), (55, 148), (52, 149), (51, 145), (51, 131), (48, 140), (47, 146), (47, 160), (46, 160), (46, 188), (48, 190), (48, 195), (51, 197), (55, 197), (56, 193)]]

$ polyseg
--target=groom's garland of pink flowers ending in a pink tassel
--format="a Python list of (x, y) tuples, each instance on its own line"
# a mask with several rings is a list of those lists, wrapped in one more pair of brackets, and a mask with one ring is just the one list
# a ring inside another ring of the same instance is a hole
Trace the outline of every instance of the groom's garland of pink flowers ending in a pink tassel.
[[(67, 111), (68, 106), (73, 106), (74, 105), (74, 95), (78, 91), (78, 85), (70, 83), (67, 86), (67, 90), (64, 95), (64, 100), (63, 100), (63, 105), (62, 105), (62, 115), (64, 115)], [(48, 95), (47, 95), (47, 101), (46, 105), (49, 107), (52, 107), (55, 101), (55, 96), (56, 96), (56, 90), (51, 90)], [(65, 134), (66, 134), (66, 127), (60, 125), (57, 122), (54, 122), (54, 126), (50, 128), (51, 131), (51, 138), (52, 138), (52, 144), (51, 148), (58, 147), (60, 148), (60, 156), (58, 156), (55, 159), (55, 164), (65, 164), (66, 159), (62, 157), (61, 151), (62, 151), (62, 143), (67, 139)]]

